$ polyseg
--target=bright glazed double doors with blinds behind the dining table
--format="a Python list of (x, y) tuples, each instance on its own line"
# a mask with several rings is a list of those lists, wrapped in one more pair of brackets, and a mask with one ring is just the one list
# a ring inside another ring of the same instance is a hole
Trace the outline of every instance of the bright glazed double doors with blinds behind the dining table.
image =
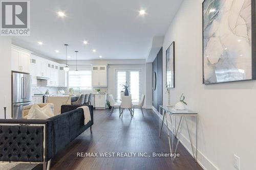
[(138, 102), (141, 93), (141, 71), (140, 70), (117, 70), (116, 71), (116, 98), (121, 99), (120, 92), (125, 82), (129, 85), (129, 94), (132, 95), (133, 102)]

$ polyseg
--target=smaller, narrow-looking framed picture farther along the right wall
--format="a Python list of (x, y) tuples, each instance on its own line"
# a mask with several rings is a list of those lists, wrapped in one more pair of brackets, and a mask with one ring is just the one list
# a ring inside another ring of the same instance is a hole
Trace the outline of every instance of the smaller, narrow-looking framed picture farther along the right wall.
[(175, 87), (175, 42), (166, 50), (166, 84)]

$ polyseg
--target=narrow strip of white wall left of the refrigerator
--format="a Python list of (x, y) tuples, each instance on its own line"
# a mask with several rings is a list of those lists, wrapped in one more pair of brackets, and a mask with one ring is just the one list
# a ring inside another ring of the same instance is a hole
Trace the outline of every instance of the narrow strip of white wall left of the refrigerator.
[(4, 118), (4, 105), (7, 118), (11, 118), (11, 37), (0, 37), (0, 118)]

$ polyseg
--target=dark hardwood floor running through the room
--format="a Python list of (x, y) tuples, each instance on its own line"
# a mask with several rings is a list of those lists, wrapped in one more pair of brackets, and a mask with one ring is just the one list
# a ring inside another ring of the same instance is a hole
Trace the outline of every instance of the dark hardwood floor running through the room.
[(202, 169), (180, 143), (179, 158), (154, 157), (77, 157), (77, 152), (152, 152), (169, 151), (166, 128), (159, 139), (159, 118), (151, 110), (142, 115), (135, 109), (131, 119), (129, 111), (119, 118), (118, 109), (110, 116), (110, 110), (94, 110), (93, 134), (83, 132), (51, 163), (51, 169)]

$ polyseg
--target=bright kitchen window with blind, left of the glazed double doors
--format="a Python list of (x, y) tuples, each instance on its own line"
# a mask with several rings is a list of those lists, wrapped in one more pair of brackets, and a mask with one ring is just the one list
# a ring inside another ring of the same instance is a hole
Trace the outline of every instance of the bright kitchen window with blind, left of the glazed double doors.
[(69, 71), (69, 87), (80, 90), (92, 89), (92, 71)]

